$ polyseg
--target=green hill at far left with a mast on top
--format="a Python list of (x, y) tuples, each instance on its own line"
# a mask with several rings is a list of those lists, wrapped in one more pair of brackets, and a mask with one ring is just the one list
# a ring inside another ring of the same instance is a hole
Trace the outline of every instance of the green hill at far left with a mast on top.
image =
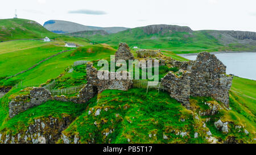
[(0, 19), (0, 41), (17, 39), (43, 39), (56, 36), (39, 23), (27, 19)]

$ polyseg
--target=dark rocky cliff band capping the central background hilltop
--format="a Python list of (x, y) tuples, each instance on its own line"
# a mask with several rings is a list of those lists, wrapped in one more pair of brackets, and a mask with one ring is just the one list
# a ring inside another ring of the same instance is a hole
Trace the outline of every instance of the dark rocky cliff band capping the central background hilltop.
[(173, 25), (164, 25), (164, 24), (145, 26), (145, 27), (141, 27), (141, 28), (148, 35), (155, 34), (155, 33), (160, 33), (160, 32), (161, 33), (166, 33), (166, 32), (193, 32), (191, 30), (191, 28), (189, 28), (187, 26), (173, 26)]

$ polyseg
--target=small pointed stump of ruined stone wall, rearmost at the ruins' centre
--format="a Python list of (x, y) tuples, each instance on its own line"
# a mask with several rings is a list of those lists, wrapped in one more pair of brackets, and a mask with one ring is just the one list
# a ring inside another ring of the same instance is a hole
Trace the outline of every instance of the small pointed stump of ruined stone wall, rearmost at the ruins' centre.
[(120, 43), (117, 52), (115, 52), (115, 62), (117, 60), (134, 60), (133, 54), (126, 43)]

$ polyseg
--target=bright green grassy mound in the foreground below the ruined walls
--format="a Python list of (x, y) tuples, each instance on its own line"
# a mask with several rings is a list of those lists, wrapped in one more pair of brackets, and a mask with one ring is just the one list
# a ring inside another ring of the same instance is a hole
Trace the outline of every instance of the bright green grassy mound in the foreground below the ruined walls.
[[(92, 110), (94, 108), (94, 110)], [(100, 108), (100, 115), (95, 116)], [(105, 111), (108, 108), (108, 111)], [(92, 114), (88, 115), (91, 110)], [(116, 114), (119, 114), (116, 117)], [(180, 122), (184, 118), (185, 122)], [(94, 125), (97, 122), (97, 125)], [(67, 129), (65, 135), (78, 135), (81, 143), (202, 143), (203, 137), (189, 139), (195, 132), (192, 115), (167, 93), (144, 89), (129, 91), (105, 90), (97, 97), (97, 102), (89, 104), (84, 114), (79, 116)], [(197, 125), (195, 125), (197, 126)], [(104, 132), (110, 133), (108, 137)], [(187, 131), (188, 136), (175, 135), (176, 131)], [(148, 134), (152, 134), (150, 138)], [(155, 136), (154, 136), (155, 134)], [(163, 134), (168, 140), (163, 139)]]

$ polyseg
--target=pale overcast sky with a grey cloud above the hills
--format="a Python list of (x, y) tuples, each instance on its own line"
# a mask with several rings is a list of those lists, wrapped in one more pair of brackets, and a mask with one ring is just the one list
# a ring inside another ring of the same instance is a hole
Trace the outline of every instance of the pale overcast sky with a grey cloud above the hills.
[[(255, 0), (1, 0), (0, 19), (68, 20), (86, 26), (176, 24), (192, 30), (256, 32)], [(1, 23), (0, 23), (1, 24)]]

